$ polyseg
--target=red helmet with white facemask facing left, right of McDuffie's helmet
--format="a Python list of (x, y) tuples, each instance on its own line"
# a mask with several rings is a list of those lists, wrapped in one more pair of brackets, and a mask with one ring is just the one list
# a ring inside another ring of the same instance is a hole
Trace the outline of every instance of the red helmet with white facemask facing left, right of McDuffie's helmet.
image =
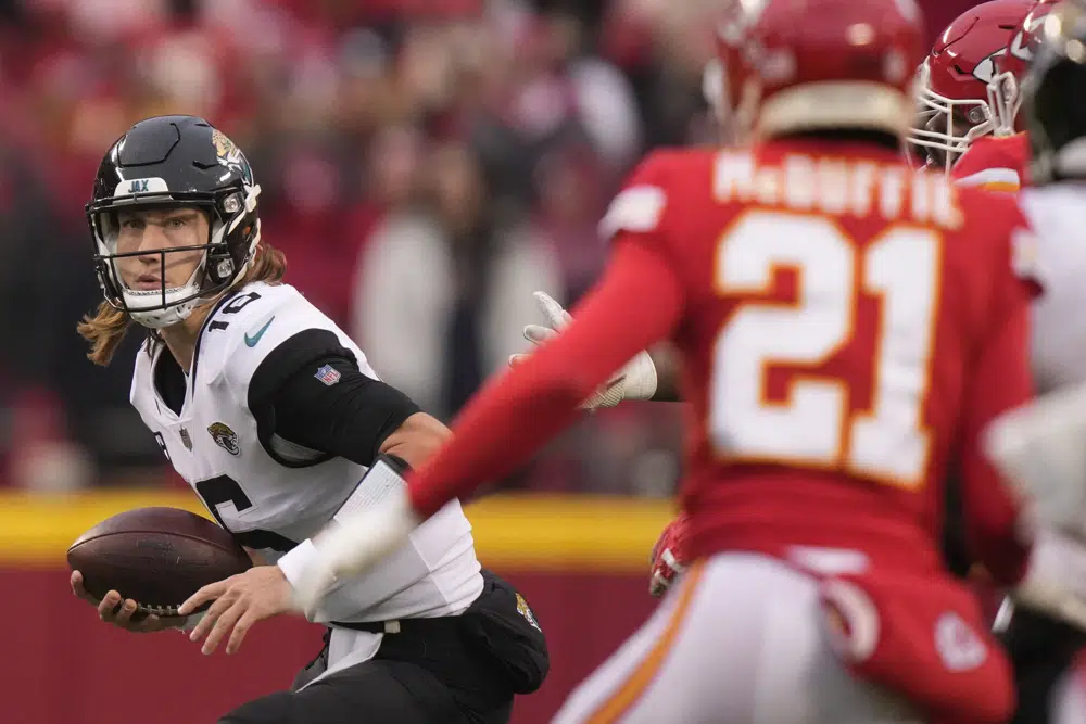
[(929, 158), (957, 161), (973, 140), (996, 129), (988, 84), (1034, 0), (990, 0), (959, 15), (920, 66), (920, 115), (909, 141)]

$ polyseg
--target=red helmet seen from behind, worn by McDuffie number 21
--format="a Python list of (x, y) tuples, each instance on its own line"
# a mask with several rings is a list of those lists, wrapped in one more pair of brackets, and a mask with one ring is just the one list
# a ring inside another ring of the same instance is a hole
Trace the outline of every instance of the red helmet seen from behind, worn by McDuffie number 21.
[(914, 0), (731, 0), (720, 110), (740, 136), (866, 128), (905, 135), (923, 58)]

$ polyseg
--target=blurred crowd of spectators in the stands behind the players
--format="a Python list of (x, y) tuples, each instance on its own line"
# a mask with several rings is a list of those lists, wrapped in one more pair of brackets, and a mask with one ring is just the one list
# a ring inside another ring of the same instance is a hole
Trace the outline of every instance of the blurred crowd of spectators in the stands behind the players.
[[(83, 207), (131, 123), (224, 129), (287, 280), (447, 420), (527, 345), (533, 291), (568, 305), (595, 279), (639, 157), (711, 142), (717, 4), (0, 0), (0, 484), (172, 474), (127, 404), (141, 335), (101, 370), (74, 332), (100, 299)], [(942, 23), (969, 3), (931, 4)], [(669, 494), (679, 415), (596, 415), (518, 482)]]

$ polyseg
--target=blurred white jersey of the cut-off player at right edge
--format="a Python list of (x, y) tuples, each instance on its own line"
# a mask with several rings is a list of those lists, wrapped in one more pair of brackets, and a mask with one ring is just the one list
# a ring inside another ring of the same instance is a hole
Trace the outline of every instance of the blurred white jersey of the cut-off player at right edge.
[(1033, 306), (1032, 365), (1037, 391), (1086, 381), (1086, 188), (1026, 188), (1022, 212), (1036, 233), (1034, 264), (1045, 292)]

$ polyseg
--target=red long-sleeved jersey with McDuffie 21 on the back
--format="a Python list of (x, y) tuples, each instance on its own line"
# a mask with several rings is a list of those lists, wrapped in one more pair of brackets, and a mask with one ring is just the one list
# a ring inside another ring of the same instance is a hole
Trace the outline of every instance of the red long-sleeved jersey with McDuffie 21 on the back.
[(604, 279), (573, 322), (491, 382), (408, 483), (427, 516), (505, 474), (662, 338), (684, 368), (691, 554), (797, 545), (940, 568), (959, 462), (975, 554), (1021, 574), (1018, 509), (981, 453), (1032, 394), (1012, 199), (954, 190), (870, 145), (651, 155), (602, 227)]

